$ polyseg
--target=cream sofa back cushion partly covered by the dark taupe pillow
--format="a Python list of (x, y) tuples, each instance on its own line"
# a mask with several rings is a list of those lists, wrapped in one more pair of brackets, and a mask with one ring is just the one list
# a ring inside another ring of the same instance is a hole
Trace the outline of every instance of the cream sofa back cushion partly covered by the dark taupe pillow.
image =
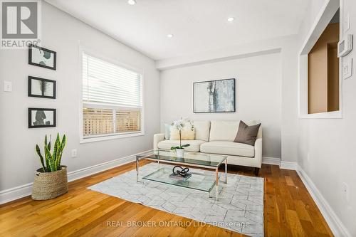
[(212, 120), (210, 125), (209, 141), (229, 141), (234, 139), (239, 130), (240, 121)]

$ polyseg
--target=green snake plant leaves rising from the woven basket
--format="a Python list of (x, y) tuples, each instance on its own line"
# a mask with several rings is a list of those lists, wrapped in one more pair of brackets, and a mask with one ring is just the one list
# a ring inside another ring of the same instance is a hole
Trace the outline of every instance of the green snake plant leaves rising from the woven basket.
[(66, 135), (63, 135), (63, 138), (60, 139), (59, 133), (57, 133), (56, 142), (54, 142), (53, 153), (51, 153), (51, 136), (49, 142), (47, 141), (47, 135), (44, 140), (44, 157), (41, 154), (41, 149), (36, 144), (36, 152), (42, 164), (43, 172), (55, 172), (61, 169), (61, 159), (63, 154), (63, 149), (66, 147)]

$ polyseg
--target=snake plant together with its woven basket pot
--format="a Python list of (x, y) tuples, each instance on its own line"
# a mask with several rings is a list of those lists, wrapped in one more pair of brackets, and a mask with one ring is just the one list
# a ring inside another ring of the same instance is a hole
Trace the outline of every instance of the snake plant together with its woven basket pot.
[(51, 152), (51, 137), (47, 141), (47, 135), (44, 140), (43, 154), (36, 144), (36, 152), (40, 158), (42, 167), (35, 172), (33, 181), (32, 199), (47, 200), (53, 199), (68, 191), (67, 167), (61, 165), (63, 149), (66, 147), (66, 135), (62, 139), (57, 133), (56, 142)]

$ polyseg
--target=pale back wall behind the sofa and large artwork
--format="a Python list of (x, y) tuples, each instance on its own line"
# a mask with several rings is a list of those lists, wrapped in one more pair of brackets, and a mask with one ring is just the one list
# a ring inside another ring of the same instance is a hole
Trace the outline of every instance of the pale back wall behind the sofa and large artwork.
[[(205, 63), (161, 72), (161, 130), (164, 122), (259, 120), (263, 156), (281, 158), (281, 53)], [(193, 83), (236, 78), (236, 112), (193, 113)]]

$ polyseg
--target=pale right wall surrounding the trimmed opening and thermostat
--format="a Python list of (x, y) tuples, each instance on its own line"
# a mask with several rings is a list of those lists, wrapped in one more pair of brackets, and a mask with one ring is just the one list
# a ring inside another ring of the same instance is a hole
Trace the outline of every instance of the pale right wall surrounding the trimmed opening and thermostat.
[[(300, 47), (325, 2), (327, 1), (313, 1), (309, 8), (308, 15), (300, 28)], [(344, 0), (343, 3), (344, 11), (340, 15), (345, 19), (345, 16), (350, 13), (350, 30), (347, 33), (353, 33), (355, 36), (356, 1)], [(336, 214), (337, 221), (340, 220), (338, 234), (345, 236), (348, 231), (350, 236), (356, 236), (355, 43), (354, 50), (345, 58), (354, 58), (354, 70), (352, 78), (342, 80), (342, 119), (299, 120), (298, 164), (320, 191), (332, 212)], [(343, 199), (343, 183), (348, 185), (349, 201)], [(347, 231), (342, 230), (344, 226)]]

